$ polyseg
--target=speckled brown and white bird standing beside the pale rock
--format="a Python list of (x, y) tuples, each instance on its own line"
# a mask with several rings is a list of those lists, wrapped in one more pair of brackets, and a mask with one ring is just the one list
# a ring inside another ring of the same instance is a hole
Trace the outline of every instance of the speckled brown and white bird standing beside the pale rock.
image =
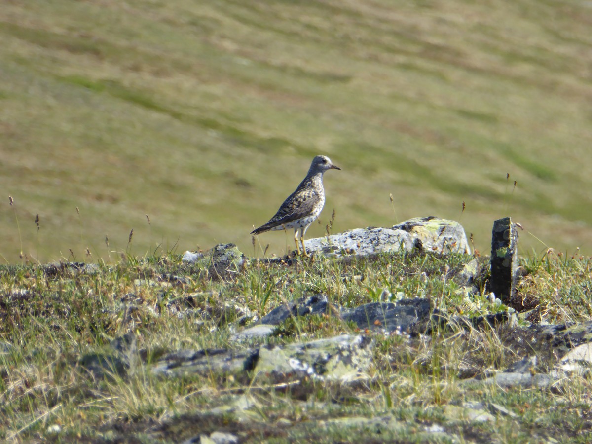
[[(323, 188), (323, 173), (330, 169), (341, 169), (333, 165), (327, 156), (316, 156), (310, 164), (306, 177), (300, 182), (296, 191), (289, 195), (279, 207), (274, 217), (250, 234), (265, 233), (265, 231), (294, 229), (294, 243), (298, 256), (308, 256), (304, 247), (304, 233), (323, 210), (325, 204), (325, 190)], [(300, 236), (298, 236), (300, 231)], [(298, 237), (302, 244), (300, 252)]]

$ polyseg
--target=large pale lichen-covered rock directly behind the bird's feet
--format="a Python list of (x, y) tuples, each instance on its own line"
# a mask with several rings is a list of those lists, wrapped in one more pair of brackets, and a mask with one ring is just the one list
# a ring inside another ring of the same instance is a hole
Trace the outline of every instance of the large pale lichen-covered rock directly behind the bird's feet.
[(420, 249), (436, 253), (470, 254), (465, 230), (455, 221), (416, 217), (391, 228), (366, 228), (304, 241), (308, 253), (372, 255)]

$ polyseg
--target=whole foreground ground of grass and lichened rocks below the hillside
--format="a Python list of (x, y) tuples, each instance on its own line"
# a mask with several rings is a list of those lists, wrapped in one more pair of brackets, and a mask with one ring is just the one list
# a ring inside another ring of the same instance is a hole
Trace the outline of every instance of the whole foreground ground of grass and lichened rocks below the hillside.
[(592, 321), (577, 316), (589, 259), (518, 263), (502, 303), (488, 258), (451, 221), (354, 230), (307, 250), (251, 259), (219, 244), (182, 260), (3, 269), (2, 437), (592, 437)]

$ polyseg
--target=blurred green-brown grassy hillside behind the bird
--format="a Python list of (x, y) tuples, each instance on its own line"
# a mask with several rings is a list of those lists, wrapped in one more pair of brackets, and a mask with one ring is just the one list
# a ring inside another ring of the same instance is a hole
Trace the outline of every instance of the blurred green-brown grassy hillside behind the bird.
[(591, 254), (591, 28), (584, 1), (3, 2), (0, 253), (253, 253), (323, 153), (311, 237), (333, 208), (334, 231), (433, 214), (488, 252), (511, 215), (523, 251)]

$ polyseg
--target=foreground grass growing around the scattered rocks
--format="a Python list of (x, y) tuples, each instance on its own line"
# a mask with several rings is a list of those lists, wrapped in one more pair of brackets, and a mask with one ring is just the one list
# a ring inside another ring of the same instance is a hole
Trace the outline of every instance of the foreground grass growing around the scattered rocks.
[[(127, 255), (86, 273), (66, 269), (47, 274), (37, 266), (2, 266), (0, 439), (167, 442), (227, 430), (243, 442), (359, 442), (368, 436), (376, 442), (395, 437), (415, 442), (422, 439), (424, 427), (436, 424), (449, 437), (465, 440), (529, 442), (535, 436), (586, 442), (592, 433), (588, 377), (543, 390), (462, 385), (461, 374), (467, 369), (487, 374), (522, 358), (524, 350), (510, 345), (511, 333), (504, 327), (452, 329), (410, 339), (359, 332), (337, 316), (309, 316), (285, 321), (265, 340), (285, 344), (344, 332), (369, 334), (375, 344), (372, 365), (367, 378), (353, 384), (303, 379), (278, 388), (251, 372), (172, 378), (150, 372), (157, 359), (172, 350), (240, 351), (249, 344), (230, 340), (240, 310), (261, 317), (282, 301), (318, 292), (345, 307), (380, 300), (387, 289), (392, 296), (385, 293), (382, 300), (427, 297), (450, 316), (506, 310), (482, 290), (463, 295), (456, 273), (470, 259), (397, 253), (316, 258), (292, 266), (253, 260), (223, 280), (207, 278), (203, 269), (182, 265), (172, 254), (143, 259)], [(590, 259), (549, 252), (529, 256), (520, 265), (526, 276), (518, 296), (526, 300), (535, 295), (543, 320), (592, 318), (585, 297)], [(163, 279), (170, 275), (181, 279)], [(482, 286), (484, 279), (486, 274), (476, 284)], [(126, 305), (136, 308), (128, 310)], [(136, 365), (126, 376), (108, 374), (95, 381), (82, 368), (82, 356), (108, 352), (108, 343), (128, 332), (137, 338)], [(536, 353), (525, 347), (528, 354)], [(553, 363), (551, 355), (543, 355), (537, 371)], [(244, 398), (252, 408), (227, 411)], [(449, 420), (446, 406), (464, 401), (496, 403), (517, 417), (500, 413), (495, 422), (485, 424)], [(212, 411), (216, 407), (218, 413)], [(375, 426), (334, 422), (382, 416), (392, 417), (396, 428), (377, 434)], [(52, 432), (52, 426), (60, 431)]]

